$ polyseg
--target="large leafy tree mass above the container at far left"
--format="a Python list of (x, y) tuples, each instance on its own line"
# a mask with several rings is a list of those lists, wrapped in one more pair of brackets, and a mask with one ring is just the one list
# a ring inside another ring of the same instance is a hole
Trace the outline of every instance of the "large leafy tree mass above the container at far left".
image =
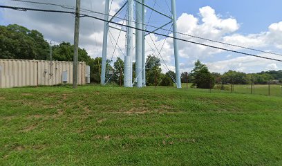
[(0, 26), (1, 59), (37, 59), (49, 56), (50, 46), (37, 30), (17, 24)]

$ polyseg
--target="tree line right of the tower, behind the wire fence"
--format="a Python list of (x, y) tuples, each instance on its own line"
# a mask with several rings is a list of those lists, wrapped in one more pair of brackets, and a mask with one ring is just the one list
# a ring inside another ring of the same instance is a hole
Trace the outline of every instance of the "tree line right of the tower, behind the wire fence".
[(215, 84), (282, 84), (282, 70), (261, 73), (243, 73), (230, 70), (223, 74), (211, 73), (207, 66), (198, 60), (191, 73), (181, 74), (181, 82), (191, 82), (192, 86), (201, 89), (212, 89)]

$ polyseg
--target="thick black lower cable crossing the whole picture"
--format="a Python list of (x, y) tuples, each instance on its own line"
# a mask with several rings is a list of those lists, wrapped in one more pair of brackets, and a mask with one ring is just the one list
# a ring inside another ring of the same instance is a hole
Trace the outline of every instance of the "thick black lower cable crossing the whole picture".
[[(0, 8), (9, 8), (9, 9), (13, 9), (13, 10), (22, 10), (22, 11), (31, 10), (31, 11), (39, 11), (39, 12), (59, 12), (59, 13), (66, 13), (66, 14), (75, 15), (75, 12), (68, 12), (68, 11), (62, 11), (62, 10), (44, 10), (44, 9), (38, 9), (38, 8), (21, 8), (21, 7), (16, 7), (16, 6), (0, 6)], [(114, 22), (114, 21), (108, 21), (108, 20), (105, 20), (105, 19), (101, 19), (99, 17), (91, 16), (91, 15), (80, 14), (80, 17), (90, 17), (90, 18), (97, 19), (97, 20), (100, 20), (100, 21), (106, 21), (108, 23), (116, 24), (118, 26), (125, 26), (127, 28), (133, 28), (135, 30), (142, 30), (140, 28), (135, 28), (133, 26), (128, 26), (128, 25), (122, 25), (122, 24)], [(149, 30), (142, 30), (142, 31), (147, 32), (147, 33), (153, 33), (155, 35), (160, 35), (160, 36), (163, 36), (163, 37), (168, 37), (168, 38), (171, 38), (171, 39), (178, 39), (179, 41), (182, 41), (182, 42), (188, 42), (188, 43), (197, 44), (197, 45), (200, 45), (200, 46), (207, 46), (209, 48), (216, 48), (218, 50), (226, 50), (226, 51), (229, 51), (229, 52), (232, 52), (232, 53), (238, 53), (238, 54), (242, 54), (242, 55), (250, 55), (252, 57), (259, 57), (259, 58), (263, 58), (263, 59), (270, 59), (270, 60), (282, 62), (281, 59), (274, 59), (274, 58), (271, 58), (271, 57), (263, 57), (263, 56), (260, 56), (260, 55), (254, 55), (254, 54), (250, 54), (250, 53), (243, 53), (243, 52), (237, 51), (237, 50), (231, 50), (231, 49), (228, 49), (228, 48), (221, 48), (221, 47), (212, 46), (212, 45), (209, 45), (209, 44), (192, 42), (192, 41), (189, 41), (187, 39), (180, 39), (178, 37), (172, 37), (172, 36), (169, 36), (169, 35), (164, 35), (164, 34), (152, 32), (152, 31), (149, 31)]]

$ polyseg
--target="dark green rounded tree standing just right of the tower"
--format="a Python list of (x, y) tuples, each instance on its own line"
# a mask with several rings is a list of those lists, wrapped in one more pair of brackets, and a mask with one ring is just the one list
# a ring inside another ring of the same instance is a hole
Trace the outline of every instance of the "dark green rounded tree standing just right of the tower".
[(191, 71), (191, 77), (193, 77), (193, 85), (200, 89), (212, 89), (214, 87), (214, 77), (205, 64), (202, 64), (200, 60), (195, 62), (195, 67)]

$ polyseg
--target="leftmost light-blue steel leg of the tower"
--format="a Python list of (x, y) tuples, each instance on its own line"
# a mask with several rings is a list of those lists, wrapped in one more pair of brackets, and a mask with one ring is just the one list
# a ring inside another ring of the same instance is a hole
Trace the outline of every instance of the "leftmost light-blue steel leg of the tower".
[[(105, 15), (104, 19), (109, 20), (109, 8), (110, 0), (105, 2)], [(103, 50), (102, 50), (102, 72), (101, 72), (101, 84), (104, 85), (106, 82), (106, 50), (108, 45), (108, 33), (109, 33), (109, 23), (104, 22), (104, 36), (103, 36)]]

